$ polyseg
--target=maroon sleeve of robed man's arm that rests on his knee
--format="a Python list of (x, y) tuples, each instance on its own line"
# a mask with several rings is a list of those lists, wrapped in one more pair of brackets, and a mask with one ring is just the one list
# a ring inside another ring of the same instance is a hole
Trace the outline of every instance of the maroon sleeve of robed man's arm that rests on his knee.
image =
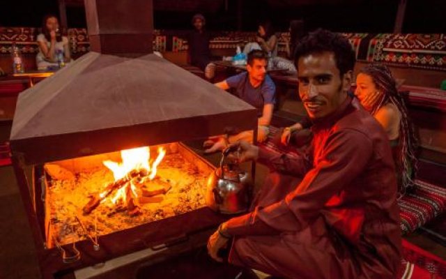
[(295, 190), (280, 202), (256, 208), (227, 222), (231, 235), (272, 234), (300, 231), (311, 223), (332, 195), (360, 175), (373, 151), (367, 135), (343, 129), (328, 137), (316, 165)]

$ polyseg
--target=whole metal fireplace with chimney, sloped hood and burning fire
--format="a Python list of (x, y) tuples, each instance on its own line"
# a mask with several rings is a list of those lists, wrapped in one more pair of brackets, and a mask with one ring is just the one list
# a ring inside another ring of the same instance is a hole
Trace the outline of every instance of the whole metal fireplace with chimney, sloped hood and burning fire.
[(151, 1), (85, 3), (92, 51), (20, 94), (10, 135), (44, 278), (221, 223), (181, 142), (256, 135), (254, 107), (151, 54)]

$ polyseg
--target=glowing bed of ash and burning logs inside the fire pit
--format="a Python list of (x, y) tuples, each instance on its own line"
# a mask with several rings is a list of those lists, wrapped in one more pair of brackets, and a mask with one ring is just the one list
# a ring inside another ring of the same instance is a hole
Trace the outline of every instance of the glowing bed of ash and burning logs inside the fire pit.
[(202, 208), (213, 166), (173, 143), (47, 163), (44, 169), (52, 248)]

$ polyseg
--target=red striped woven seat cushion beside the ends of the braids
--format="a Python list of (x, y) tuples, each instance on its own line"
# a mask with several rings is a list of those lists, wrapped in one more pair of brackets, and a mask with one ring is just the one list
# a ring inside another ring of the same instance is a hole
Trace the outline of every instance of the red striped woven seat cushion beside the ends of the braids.
[(445, 212), (446, 188), (415, 180), (415, 187), (398, 204), (401, 232), (407, 234)]

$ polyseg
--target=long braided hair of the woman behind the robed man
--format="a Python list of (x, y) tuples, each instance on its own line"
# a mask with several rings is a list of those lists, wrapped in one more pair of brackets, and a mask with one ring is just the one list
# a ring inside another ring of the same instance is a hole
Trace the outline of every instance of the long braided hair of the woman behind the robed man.
[(400, 197), (408, 188), (414, 185), (413, 174), (417, 170), (416, 150), (418, 147), (418, 139), (413, 127), (412, 121), (408, 115), (408, 109), (404, 102), (403, 96), (398, 92), (397, 85), (387, 66), (382, 64), (369, 64), (362, 68), (360, 73), (369, 75), (373, 80), (376, 88), (383, 91), (383, 95), (371, 106), (370, 114), (375, 115), (378, 110), (388, 103), (392, 103), (401, 113), (401, 122), (399, 125), (399, 154), (397, 172), (401, 174), (401, 183), (399, 183)]

